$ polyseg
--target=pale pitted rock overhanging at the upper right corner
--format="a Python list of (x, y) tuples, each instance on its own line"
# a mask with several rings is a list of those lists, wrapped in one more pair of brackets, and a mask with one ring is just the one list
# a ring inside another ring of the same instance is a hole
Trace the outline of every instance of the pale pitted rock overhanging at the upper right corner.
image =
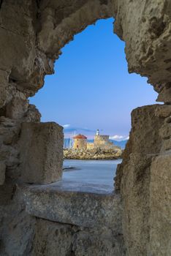
[(117, 3), (115, 32), (126, 42), (129, 72), (147, 76), (159, 92), (159, 100), (170, 102), (170, 1)]

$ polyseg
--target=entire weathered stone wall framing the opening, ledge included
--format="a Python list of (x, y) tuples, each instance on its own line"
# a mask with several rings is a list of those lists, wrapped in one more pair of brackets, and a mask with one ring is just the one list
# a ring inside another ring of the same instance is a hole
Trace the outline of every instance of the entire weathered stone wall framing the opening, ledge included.
[[(63, 129), (28, 101), (64, 45), (104, 18), (162, 102), (132, 110), (111, 193), (63, 186)], [(170, 56), (170, 0), (0, 1), (1, 256), (171, 255)]]

